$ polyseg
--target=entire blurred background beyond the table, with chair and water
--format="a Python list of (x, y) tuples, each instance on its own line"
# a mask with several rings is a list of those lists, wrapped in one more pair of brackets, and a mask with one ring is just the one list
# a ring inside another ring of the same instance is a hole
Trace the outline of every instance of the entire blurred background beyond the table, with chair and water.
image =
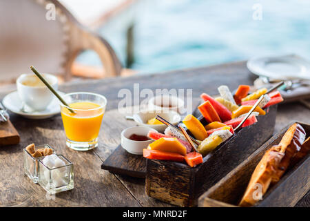
[(309, 12), (308, 0), (1, 0), (0, 85), (32, 64), (68, 81), (310, 60)]

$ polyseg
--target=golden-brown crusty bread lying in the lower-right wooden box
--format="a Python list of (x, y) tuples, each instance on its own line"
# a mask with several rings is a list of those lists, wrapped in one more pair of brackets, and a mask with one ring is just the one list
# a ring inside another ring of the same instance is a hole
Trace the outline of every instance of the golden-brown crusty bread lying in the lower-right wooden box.
[(257, 184), (262, 186), (261, 191), (262, 195), (264, 195), (269, 185), (278, 182), (289, 166), (309, 153), (310, 141), (308, 137), (304, 142), (305, 137), (304, 128), (295, 123), (285, 132), (277, 146), (272, 146), (266, 151), (251, 175), (239, 206), (253, 206), (256, 204), (259, 200), (254, 199)]

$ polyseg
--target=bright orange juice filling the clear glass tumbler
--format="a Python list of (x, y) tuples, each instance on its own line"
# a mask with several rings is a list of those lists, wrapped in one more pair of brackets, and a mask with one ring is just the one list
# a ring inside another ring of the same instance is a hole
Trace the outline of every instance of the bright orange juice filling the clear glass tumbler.
[(69, 104), (76, 113), (68, 108), (61, 108), (65, 135), (75, 142), (91, 142), (99, 135), (104, 110), (99, 104), (92, 102), (76, 102)]

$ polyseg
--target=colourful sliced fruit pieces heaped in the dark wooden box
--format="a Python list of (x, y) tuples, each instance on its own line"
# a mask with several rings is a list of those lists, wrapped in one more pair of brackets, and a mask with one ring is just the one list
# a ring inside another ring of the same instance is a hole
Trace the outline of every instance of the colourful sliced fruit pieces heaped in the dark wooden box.
[(267, 93), (267, 88), (261, 88), (248, 95), (249, 89), (247, 85), (240, 85), (233, 96), (227, 86), (220, 86), (220, 97), (216, 98), (203, 93), (200, 97), (204, 102), (198, 106), (202, 116), (187, 115), (182, 121), (196, 144), (191, 144), (178, 128), (168, 126), (165, 133), (149, 131), (147, 136), (155, 142), (143, 150), (143, 156), (152, 160), (186, 162), (191, 167), (203, 163), (205, 155), (234, 135), (258, 98), (262, 96), (262, 101), (241, 128), (255, 124), (258, 115), (266, 115), (269, 106), (283, 101), (278, 91)]

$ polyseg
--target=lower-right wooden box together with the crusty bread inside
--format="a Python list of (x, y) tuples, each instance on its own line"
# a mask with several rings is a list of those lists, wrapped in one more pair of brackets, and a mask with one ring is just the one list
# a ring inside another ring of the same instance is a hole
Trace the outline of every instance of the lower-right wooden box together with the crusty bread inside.
[(199, 206), (295, 206), (310, 190), (310, 124), (293, 122), (199, 199)]

